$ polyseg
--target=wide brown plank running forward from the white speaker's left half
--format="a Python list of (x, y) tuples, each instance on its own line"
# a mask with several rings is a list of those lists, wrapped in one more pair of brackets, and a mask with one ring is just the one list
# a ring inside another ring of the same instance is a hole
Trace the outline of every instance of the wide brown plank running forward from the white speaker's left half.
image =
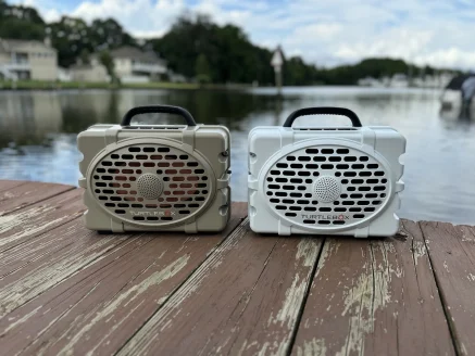
[(118, 355), (284, 354), (320, 246), (241, 224)]

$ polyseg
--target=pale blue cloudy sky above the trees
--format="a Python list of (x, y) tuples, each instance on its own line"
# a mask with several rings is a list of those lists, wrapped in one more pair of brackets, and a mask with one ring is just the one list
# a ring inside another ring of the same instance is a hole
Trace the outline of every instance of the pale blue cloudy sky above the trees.
[(12, 0), (46, 21), (114, 17), (136, 37), (163, 35), (185, 11), (243, 28), (320, 66), (370, 56), (475, 71), (475, 0)]

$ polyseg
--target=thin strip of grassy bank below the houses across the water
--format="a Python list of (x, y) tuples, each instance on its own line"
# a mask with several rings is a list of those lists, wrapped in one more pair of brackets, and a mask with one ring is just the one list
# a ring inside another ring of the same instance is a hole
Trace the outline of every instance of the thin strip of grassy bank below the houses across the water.
[(109, 82), (84, 82), (84, 81), (41, 81), (41, 80), (0, 80), (0, 90), (62, 90), (62, 89), (177, 89), (177, 90), (193, 90), (193, 89), (245, 89), (249, 85), (199, 85), (193, 82), (125, 82), (121, 85), (111, 85)]

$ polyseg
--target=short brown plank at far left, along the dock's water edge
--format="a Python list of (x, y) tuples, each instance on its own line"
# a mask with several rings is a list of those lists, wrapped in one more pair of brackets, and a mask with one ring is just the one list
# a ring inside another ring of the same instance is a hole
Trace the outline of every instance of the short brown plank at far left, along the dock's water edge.
[(72, 189), (75, 187), (35, 181), (0, 191), (0, 216)]

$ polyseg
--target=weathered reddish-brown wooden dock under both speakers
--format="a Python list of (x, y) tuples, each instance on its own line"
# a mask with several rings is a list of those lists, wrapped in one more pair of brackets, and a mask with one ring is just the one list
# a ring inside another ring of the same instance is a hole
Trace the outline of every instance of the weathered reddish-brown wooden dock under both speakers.
[(475, 355), (475, 228), (103, 236), (82, 190), (0, 181), (0, 355)]

